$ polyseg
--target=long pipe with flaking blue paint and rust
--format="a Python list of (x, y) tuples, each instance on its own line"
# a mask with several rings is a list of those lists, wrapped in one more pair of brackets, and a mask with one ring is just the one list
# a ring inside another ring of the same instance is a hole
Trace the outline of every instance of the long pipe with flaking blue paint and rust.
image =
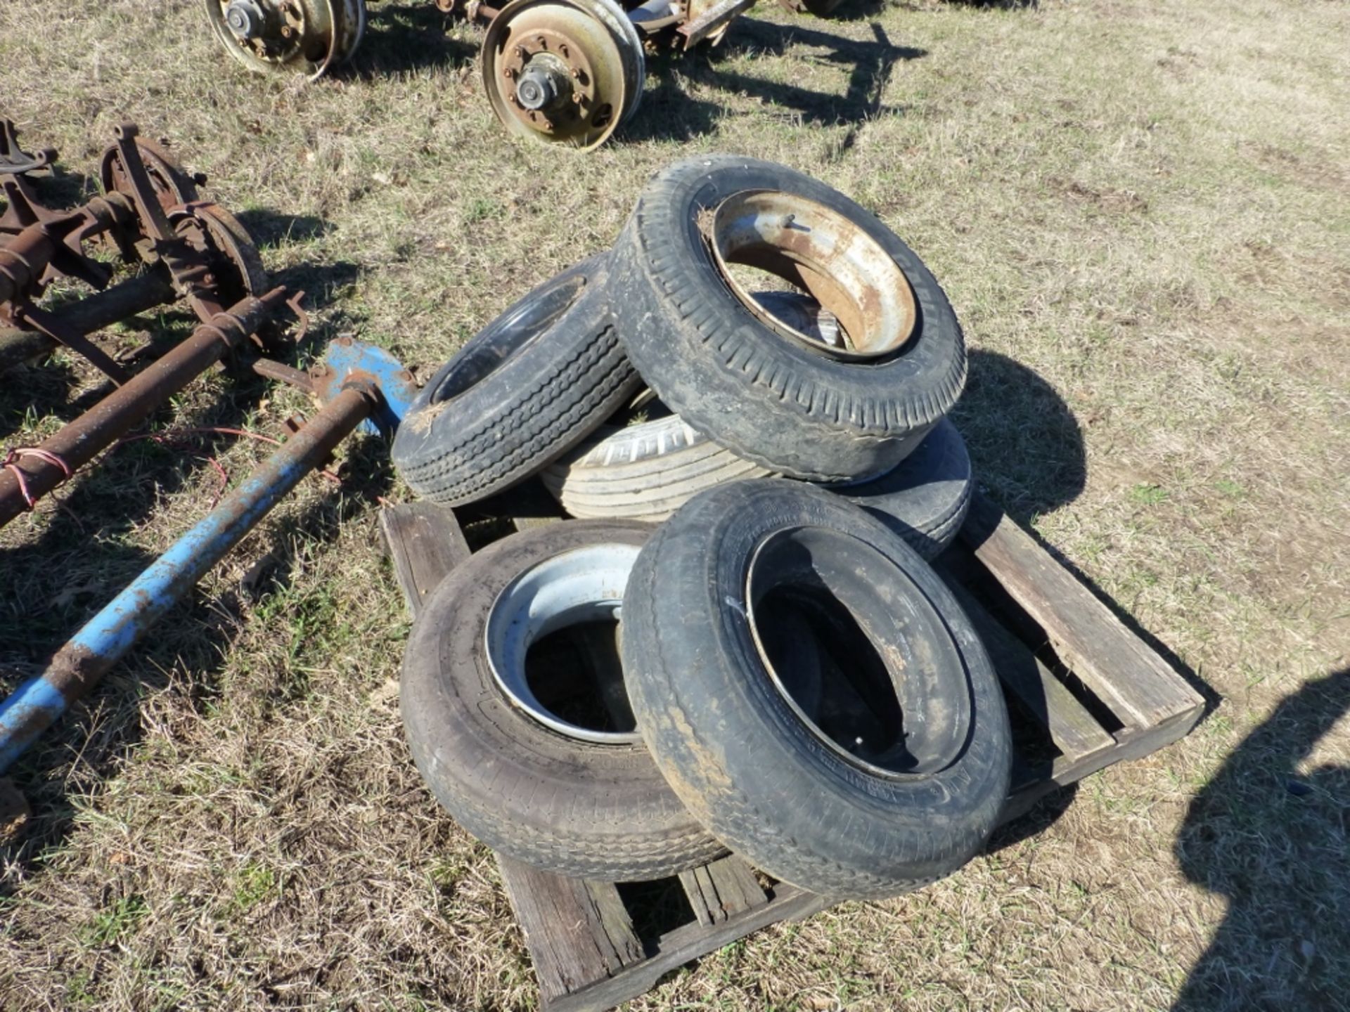
[(348, 381), (305, 428), (85, 623), (42, 675), (15, 690), (0, 704), (0, 773), (379, 403), (371, 381)]

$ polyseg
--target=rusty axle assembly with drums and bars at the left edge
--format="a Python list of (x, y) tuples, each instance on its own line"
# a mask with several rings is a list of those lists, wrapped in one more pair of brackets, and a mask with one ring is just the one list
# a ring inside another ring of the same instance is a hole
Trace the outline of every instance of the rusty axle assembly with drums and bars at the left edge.
[[(82, 355), (116, 389), (38, 447), (11, 449), (0, 463), (0, 526), (50, 493), (227, 352), (258, 335), (285, 301), (266, 294), (266, 274), (243, 227), (197, 198), (204, 177), (189, 177), (136, 127), (113, 131), (101, 165), (104, 194), (68, 210), (46, 206), (34, 174), (51, 171), (55, 151), (27, 155), (0, 121), (0, 368), (58, 344)], [(92, 244), (116, 250), (142, 273), (108, 287), (112, 271)], [(74, 305), (40, 304), (58, 278), (97, 290)], [(201, 321), (193, 335), (132, 375), (89, 340), (117, 320), (182, 298)], [(298, 297), (297, 297), (298, 298)], [(294, 304), (296, 300), (292, 300)]]

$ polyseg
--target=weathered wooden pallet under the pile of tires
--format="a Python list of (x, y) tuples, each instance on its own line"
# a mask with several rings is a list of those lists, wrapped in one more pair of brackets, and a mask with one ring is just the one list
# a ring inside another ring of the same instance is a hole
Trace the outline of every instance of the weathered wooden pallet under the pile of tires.
[[(520, 521), (540, 522), (537, 510)], [(455, 514), (428, 503), (381, 515), (416, 614), (470, 555)], [(1203, 698), (1030, 534), (976, 498), (938, 571), (980, 630), (1003, 680), (1015, 739), (1004, 822), (1057, 787), (1168, 745), (1199, 721)], [(606, 1009), (664, 974), (779, 920), (832, 905), (725, 857), (639, 895), (563, 878), (498, 855), (547, 1012)], [(670, 903), (670, 892), (682, 893)], [(653, 907), (667, 911), (651, 916)], [(675, 922), (668, 923), (674, 907)]]

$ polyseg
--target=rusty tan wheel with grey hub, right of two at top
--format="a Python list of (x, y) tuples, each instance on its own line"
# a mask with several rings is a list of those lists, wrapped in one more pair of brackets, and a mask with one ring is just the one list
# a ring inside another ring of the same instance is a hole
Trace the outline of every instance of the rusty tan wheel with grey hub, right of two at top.
[(483, 39), (483, 85), (514, 134), (597, 147), (633, 115), (641, 40), (613, 0), (513, 0)]

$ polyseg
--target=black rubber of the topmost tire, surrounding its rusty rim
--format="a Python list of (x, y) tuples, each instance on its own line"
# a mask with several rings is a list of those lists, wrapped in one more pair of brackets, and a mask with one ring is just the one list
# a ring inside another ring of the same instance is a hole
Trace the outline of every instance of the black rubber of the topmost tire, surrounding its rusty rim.
[[(788, 192), (859, 225), (914, 291), (913, 335), (891, 356), (841, 360), (780, 339), (722, 279), (701, 220), (742, 190)], [(694, 429), (792, 478), (846, 482), (890, 471), (956, 402), (965, 341), (918, 256), (873, 215), (802, 173), (711, 155), (647, 185), (613, 251), (612, 304), (629, 359)]]

